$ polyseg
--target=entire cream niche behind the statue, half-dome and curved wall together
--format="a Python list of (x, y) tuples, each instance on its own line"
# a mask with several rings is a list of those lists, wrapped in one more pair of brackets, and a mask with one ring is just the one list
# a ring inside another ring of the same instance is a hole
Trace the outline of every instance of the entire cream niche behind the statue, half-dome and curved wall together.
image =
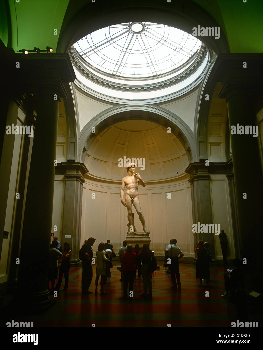
[[(191, 189), (184, 172), (189, 160), (183, 139), (167, 132), (154, 120), (154, 114), (146, 111), (120, 112), (111, 120), (114, 123), (96, 131), (83, 153), (89, 173), (83, 184), (81, 241), (94, 232), (98, 241), (110, 239), (115, 247), (126, 239), (128, 219), (120, 201), (121, 179), (127, 175), (128, 159), (139, 159), (135, 172), (146, 182), (138, 191), (151, 249), (156, 256), (163, 256), (176, 227), (184, 256), (193, 258)], [(143, 231), (134, 208), (133, 212), (136, 230)]]

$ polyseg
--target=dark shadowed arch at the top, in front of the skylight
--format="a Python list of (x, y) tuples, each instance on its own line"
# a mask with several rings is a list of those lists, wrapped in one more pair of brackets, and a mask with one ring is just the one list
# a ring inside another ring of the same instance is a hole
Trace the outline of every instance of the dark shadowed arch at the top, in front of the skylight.
[[(98, 8), (99, 7), (99, 8)], [(217, 21), (204, 8), (196, 2), (185, 1), (184, 6), (180, 3), (151, 0), (143, 2), (131, 2), (127, 0), (116, 0), (112, 2), (86, 3), (85, 0), (70, 0), (60, 30), (56, 52), (67, 52), (69, 47), (95, 30), (123, 22), (141, 22), (147, 19), (149, 22), (162, 23), (176, 27), (192, 34), (193, 28), (198, 27), (220, 27)], [(198, 37), (208, 45), (216, 54), (229, 52), (227, 38), (223, 28), (220, 28), (220, 38)], [(74, 33), (74, 34), (73, 34)]]

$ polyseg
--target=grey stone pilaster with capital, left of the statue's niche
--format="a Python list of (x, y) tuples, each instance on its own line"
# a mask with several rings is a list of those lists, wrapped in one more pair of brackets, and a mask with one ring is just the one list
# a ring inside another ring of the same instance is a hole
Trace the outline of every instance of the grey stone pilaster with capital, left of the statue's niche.
[[(66, 181), (61, 244), (70, 243), (72, 248), (70, 266), (78, 266), (81, 264), (79, 250), (83, 244), (80, 241), (83, 183), (84, 174), (88, 173), (88, 169), (83, 163), (69, 160), (59, 163), (56, 168), (56, 173), (64, 174)], [(71, 237), (65, 238), (65, 236)]]

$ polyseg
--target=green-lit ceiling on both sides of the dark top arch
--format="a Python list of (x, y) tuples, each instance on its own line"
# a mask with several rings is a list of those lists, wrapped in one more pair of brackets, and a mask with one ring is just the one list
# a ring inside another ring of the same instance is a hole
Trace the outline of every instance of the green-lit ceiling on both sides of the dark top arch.
[[(194, 1), (219, 23), (228, 38), (230, 52), (263, 52), (262, 0)], [(7, 2), (12, 36), (10, 30), (7, 30), (5, 3), (0, 1), (0, 38), (4, 44), (16, 52), (33, 49), (34, 46), (45, 49), (47, 45), (56, 51), (69, 0), (6, 0)], [(58, 35), (54, 35), (54, 29), (58, 30)]]

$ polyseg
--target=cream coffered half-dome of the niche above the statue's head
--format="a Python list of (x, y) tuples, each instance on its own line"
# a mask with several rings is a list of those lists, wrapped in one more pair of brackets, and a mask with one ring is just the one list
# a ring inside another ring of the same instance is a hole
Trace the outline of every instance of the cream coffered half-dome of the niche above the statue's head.
[[(160, 181), (180, 177), (189, 164), (181, 142), (167, 129), (145, 120), (114, 124), (95, 137), (87, 150), (85, 165), (89, 177), (120, 181), (127, 175), (119, 159), (145, 159), (145, 169), (136, 168), (144, 180)], [(177, 175), (178, 173), (178, 175)]]

